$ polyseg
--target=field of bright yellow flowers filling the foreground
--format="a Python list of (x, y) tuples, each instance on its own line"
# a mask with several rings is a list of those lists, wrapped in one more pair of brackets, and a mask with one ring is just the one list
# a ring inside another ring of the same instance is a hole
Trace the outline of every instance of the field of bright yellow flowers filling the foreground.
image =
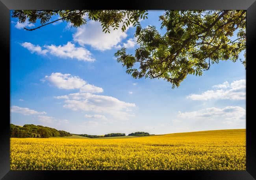
[(245, 170), (245, 129), (139, 138), (11, 138), (11, 170)]

